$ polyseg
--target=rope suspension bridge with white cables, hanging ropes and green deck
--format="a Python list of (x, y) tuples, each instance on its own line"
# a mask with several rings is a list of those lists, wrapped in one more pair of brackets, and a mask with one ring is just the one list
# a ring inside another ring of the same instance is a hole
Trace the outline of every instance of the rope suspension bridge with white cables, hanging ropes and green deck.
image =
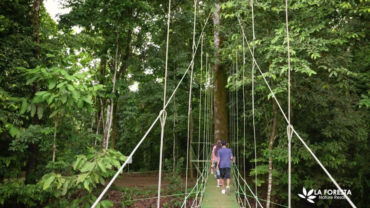
[[(208, 17), (205, 20), (205, 23), (203, 24), (202, 28), (202, 33), (200, 37), (198, 38), (198, 41), (196, 43), (195, 41), (195, 28), (196, 28), (196, 4), (198, 3), (198, 0), (194, 1), (194, 31), (193, 31), (193, 44), (192, 44), (192, 60), (191, 63), (189, 64), (188, 68), (186, 69), (184, 75), (182, 76), (181, 80), (179, 81), (178, 85), (176, 86), (175, 90), (172, 92), (171, 96), (166, 100), (166, 79), (167, 79), (167, 64), (168, 64), (168, 38), (169, 38), (169, 25), (170, 25), (170, 17), (171, 17), (171, 0), (169, 0), (169, 6), (168, 6), (168, 22), (167, 22), (167, 44), (166, 44), (166, 64), (165, 64), (165, 79), (164, 79), (164, 102), (163, 102), (163, 109), (159, 111), (159, 115), (157, 118), (154, 120), (152, 125), (149, 127), (147, 132), (144, 134), (142, 139), (138, 142), (134, 150), (132, 150), (131, 154), (128, 156), (127, 160), (124, 162), (124, 164), (121, 166), (121, 168), (117, 171), (117, 173), (114, 175), (114, 177), (111, 179), (111, 181), (108, 183), (108, 185), (105, 187), (105, 189), (101, 192), (97, 200), (94, 202), (91, 208), (95, 208), (104, 194), (107, 192), (107, 190), (110, 188), (114, 180), (118, 177), (120, 172), (123, 170), (125, 165), (127, 164), (128, 160), (132, 158), (132, 155), (134, 155), (135, 151), (138, 149), (138, 147), (141, 145), (141, 143), (145, 140), (147, 137), (148, 133), (152, 130), (154, 125), (158, 122), (161, 124), (161, 149), (160, 149), (160, 158), (159, 158), (159, 177), (158, 177), (158, 196), (157, 196), (157, 208), (160, 207), (160, 200), (162, 197), (168, 197), (168, 196), (162, 196), (161, 195), (161, 174), (162, 174), (162, 151), (163, 151), (163, 137), (164, 137), (164, 127), (165, 127), (165, 121), (166, 121), (166, 107), (168, 106), (169, 102), (171, 101), (172, 97), (175, 95), (176, 91), (178, 90), (179, 85), (182, 83), (184, 80), (184, 77), (187, 76), (190, 73), (190, 89), (189, 89), (189, 108), (188, 108), (188, 141), (187, 141), (187, 159), (189, 158), (189, 154), (192, 154), (193, 160), (186, 160), (186, 175), (188, 175), (188, 163), (192, 162), (194, 164), (194, 167), (196, 168), (196, 174), (197, 174), (197, 179), (196, 179), (196, 184), (195, 186), (191, 189), (191, 191), (187, 191), (188, 187), (188, 179), (186, 177), (186, 184), (185, 184), (185, 193), (180, 194), (184, 195), (184, 201), (182, 203), (181, 207), (188, 207), (188, 208), (195, 208), (195, 207), (203, 207), (203, 208), (219, 208), (219, 207), (225, 207), (225, 208), (246, 208), (246, 207), (264, 207), (264, 203), (266, 200), (263, 199), (262, 196), (258, 196), (258, 187), (257, 187), (257, 182), (255, 182), (255, 187), (250, 187), (248, 182), (246, 181), (246, 176), (245, 176), (245, 170), (243, 171), (243, 175), (239, 171), (239, 167), (241, 163), (243, 162), (244, 168), (245, 168), (245, 158), (239, 159), (237, 157), (236, 164), (232, 165), (232, 170), (231, 170), (231, 191), (230, 194), (221, 194), (221, 188), (218, 188), (215, 186), (215, 180), (213, 178), (213, 175), (210, 173), (210, 167), (211, 167), (211, 150), (212, 150), (212, 144), (213, 144), (213, 135), (212, 132), (214, 132), (213, 125), (212, 125), (212, 118), (213, 118), (213, 80), (214, 80), (214, 74), (213, 71), (211, 70), (211, 65), (208, 63), (208, 54), (206, 54), (206, 63), (205, 63), (205, 80), (200, 80), (200, 86), (202, 86), (202, 81), (203, 84), (206, 85), (205, 89), (200, 88), (200, 103), (199, 103), (199, 129), (201, 127), (201, 122), (203, 123), (203, 138), (201, 138), (200, 131), (198, 135), (198, 142), (189, 142), (189, 124), (190, 124), (190, 110), (191, 110), (191, 95), (192, 95), (192, 83), (193, 83), (193, 73), (194, 73), (194, 57), (195, 54), (199, 51), (199, 43), (200, 45), (200, 50), (201, 50), (201, 74), (203, 70), (203, 30), (205, 26), (208, 23), (209, 17), (211, 16), (212, 9), (208, 14)], [(269, 88), (270, 93), (272, 94), (273, 99), (276, 101), (277, 106), (279, 107), (279, 110), (281, 111), (283, 117), (285, 118), (285, 121), (287, 123), (287, 139), (288, 139), (288, 206), (286, 205), (280, 205), (276, 204), (280, 207), (288, 207), (291, 208), (291, 152), (290, 152), (290, 147), (291, 147), (291, 138), (293, 136), (293, 133), (296, 135), (296, 137), (299, 139), (300, 142), (305, 146), (305, 148), (310, 152), (312, 157), (316, 160), (316, 162), (320, 165), (320, 167), (323, 169), (323, 171), (327, 174), (327, 176), (330, 178), (330, 180), (333, 182), (333, 184), (338, 188), (340, 186), (337, 184), (337, 182), (334, 180), (334, 178), (330, 175), (330, 173), (326, 170), (326, 168), (323, 166), (323, 164), (319, 161), (319, 159), (314, 155), (314, 153), (310, 150), (308, 145), (305, 143), (305, 141), (300, 137), (298, 132), (293, 128), (293, 125), (290, 123), (290, 52), (289, 52), (289, 30), (288, 30), (288, 12), (287, 12), (287, 0), (285, 2), (285, 11), (286, 11), (286, 36), (287, 36), (287, 54), (288, 54), (288, 116), (286, 116), (285, 112), (283, 111), (282, 107), (279, 104), (279, 101), (275, 97), (275, 94), (273, 93), (272, 89), (270, 88), (268, 82), (266, 81), (265, 76), (262, 73), (262, 70), (260, 69), (257, 61), (255, 60), (254, 57), (254, 40), (255, 40), (255, 33), (254, 33), (254, 16), (253, 16), (253, 0), (251, 1), (251, 10), (252, 10), (252, 28), (253, 28), (253, 44), (252, 48), (250, 47), (250, 44), (247, 40), (247, 37), (245, 36), (244, 33), (244, 27), (242, 26), (239, 17), (239, 25), (240, 25), (240, 32), (242, 33), (243, 36), (243, 87), (242, 91), (244, 92), (244, 72), (245, 72), (245, 51), (250, 52), (250, 55), (252, 57), (252, 92), (254, 92), (254, 68), (257, 67), (260, 75), (262, 76), (263, 80), (266, 83), (266, 86)], [(246, 43), (246, 46), (245, 46)], [(238, 52), (236, 52), (238, 53)], [(233, 77), (232, 81), (237, 82), (238, 81), (238, 60), (236, 56), (236, 71), (234, 68), (232, 68), (229, 72), (230, 76)], [(190, 72), (189, 72), (190, 71)], [(236, 89), (231, 91), (229, 93), (229, 99), (234, 100), (236, 99), (236, 105), (238, 105), (238, 96), (236, 96), (236, 93), (238, 93), (240, 89), (238, 89), (238, 85), (236, 85)], [(203, 101), (203, 103), (202, 103)], [(202, 111), (203, 107), (203, 111)], [(201, 112), (202, 111), (202, 112)], [(233, 113), (233, 115), (238, 115), (238, 106), (229, 106), (229, 111)], [(235, 112), (236, 111), (236, 112)], [(201, 113), (204, 114), (204, 120), (201, 121)], [(254, 153), (255, 153), (255, 168), (257, 167), (257, 160), (256, 160), (256, 138), (255, 138), (255, 121), (254, 121), (254, 93), (252, 93), (252, 114), (253, 114), (253, 135), (254, 135)], [(243, 93), (243, 141), (245, 144), (245, 95)], [(236, 120), (236, 122), (235, 122)], [(235, 126), (236, 125), (236, 126)], [(243, 151), (245, 151), (245, 146), (239, 147), (239, 143), (237, 141), (240, 140), (239, 138), (239, 123), (238, 119), (235, 119), (235, 117), (230, 116), (230, 131), (231, 134), (229, 135), (230, 138), (230, 146), (233, 152), (238, 151), (239, 148), (243, 148)], [(202, 140), (202, 142), (201, 142)], [(196, 144), (196, 145), (193, 145)], [(257, 171), (255, 171), (257, 172)], [(255, 175), (255, 181), (257, 181), (257, 175)], [(351, 199), (344, 193), (342, 192), (342, 195), (346, 198), (348, 203), (351, 205), (351, 207), (356, 208), (356, 206), (353, 204)], [(189, 200), (192, 199), (192, 200)], [(139, 199), (138, 199), (139, 200)], [(272, 203), (272, 202), (270, 202)], [(275, 203), (272, 203), (275, 204)]]

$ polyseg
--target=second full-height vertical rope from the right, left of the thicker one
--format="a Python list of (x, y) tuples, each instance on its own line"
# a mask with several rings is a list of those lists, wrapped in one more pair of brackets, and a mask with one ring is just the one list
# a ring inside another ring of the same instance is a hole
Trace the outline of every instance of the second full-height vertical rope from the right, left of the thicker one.
[[(255, 59), (254, 59), (254, 41), (256, 39), (255, 33), (254, 33), (254, 12), (253, 12), (253, 0), (251, 1), (251, 7), (252, 7), (252, 31), (253, 31), (253, 59), (252, 59), (252, 114), (253, 114), (253, 138), (255, 142), (255, 188), (256, 188), (256, 207), (257, 207), (257, 149), (256, 149), (256, 128), (255, 128), (255, 120), (254, 120), (254, 66), (255, 66)], [(239, 19), (238, 19), (239, 20)], [(240, 22), (240, 21), (239, 21)], [(244, 35), (244, 30), (243, 30), (243, 37)], [(247, 42), (248, 44), (248, 42)]]

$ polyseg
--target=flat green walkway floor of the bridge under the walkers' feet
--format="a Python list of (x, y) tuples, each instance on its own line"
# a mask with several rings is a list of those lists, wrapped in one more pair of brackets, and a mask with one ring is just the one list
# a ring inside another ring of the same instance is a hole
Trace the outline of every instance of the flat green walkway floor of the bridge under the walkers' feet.
[[(216, 187), (217, 181), (211, 173), (208, 175), (208, 181), (205, 188), (202, 208), (238, 208), (238, 201), (236, 200), (233, 179), (230, 182), (230, 195), (222, 194), (222, 186)], [(226, 183), (226, 180), (225, 180)], [(226, 188), (226, 184), (225, 184)]]

